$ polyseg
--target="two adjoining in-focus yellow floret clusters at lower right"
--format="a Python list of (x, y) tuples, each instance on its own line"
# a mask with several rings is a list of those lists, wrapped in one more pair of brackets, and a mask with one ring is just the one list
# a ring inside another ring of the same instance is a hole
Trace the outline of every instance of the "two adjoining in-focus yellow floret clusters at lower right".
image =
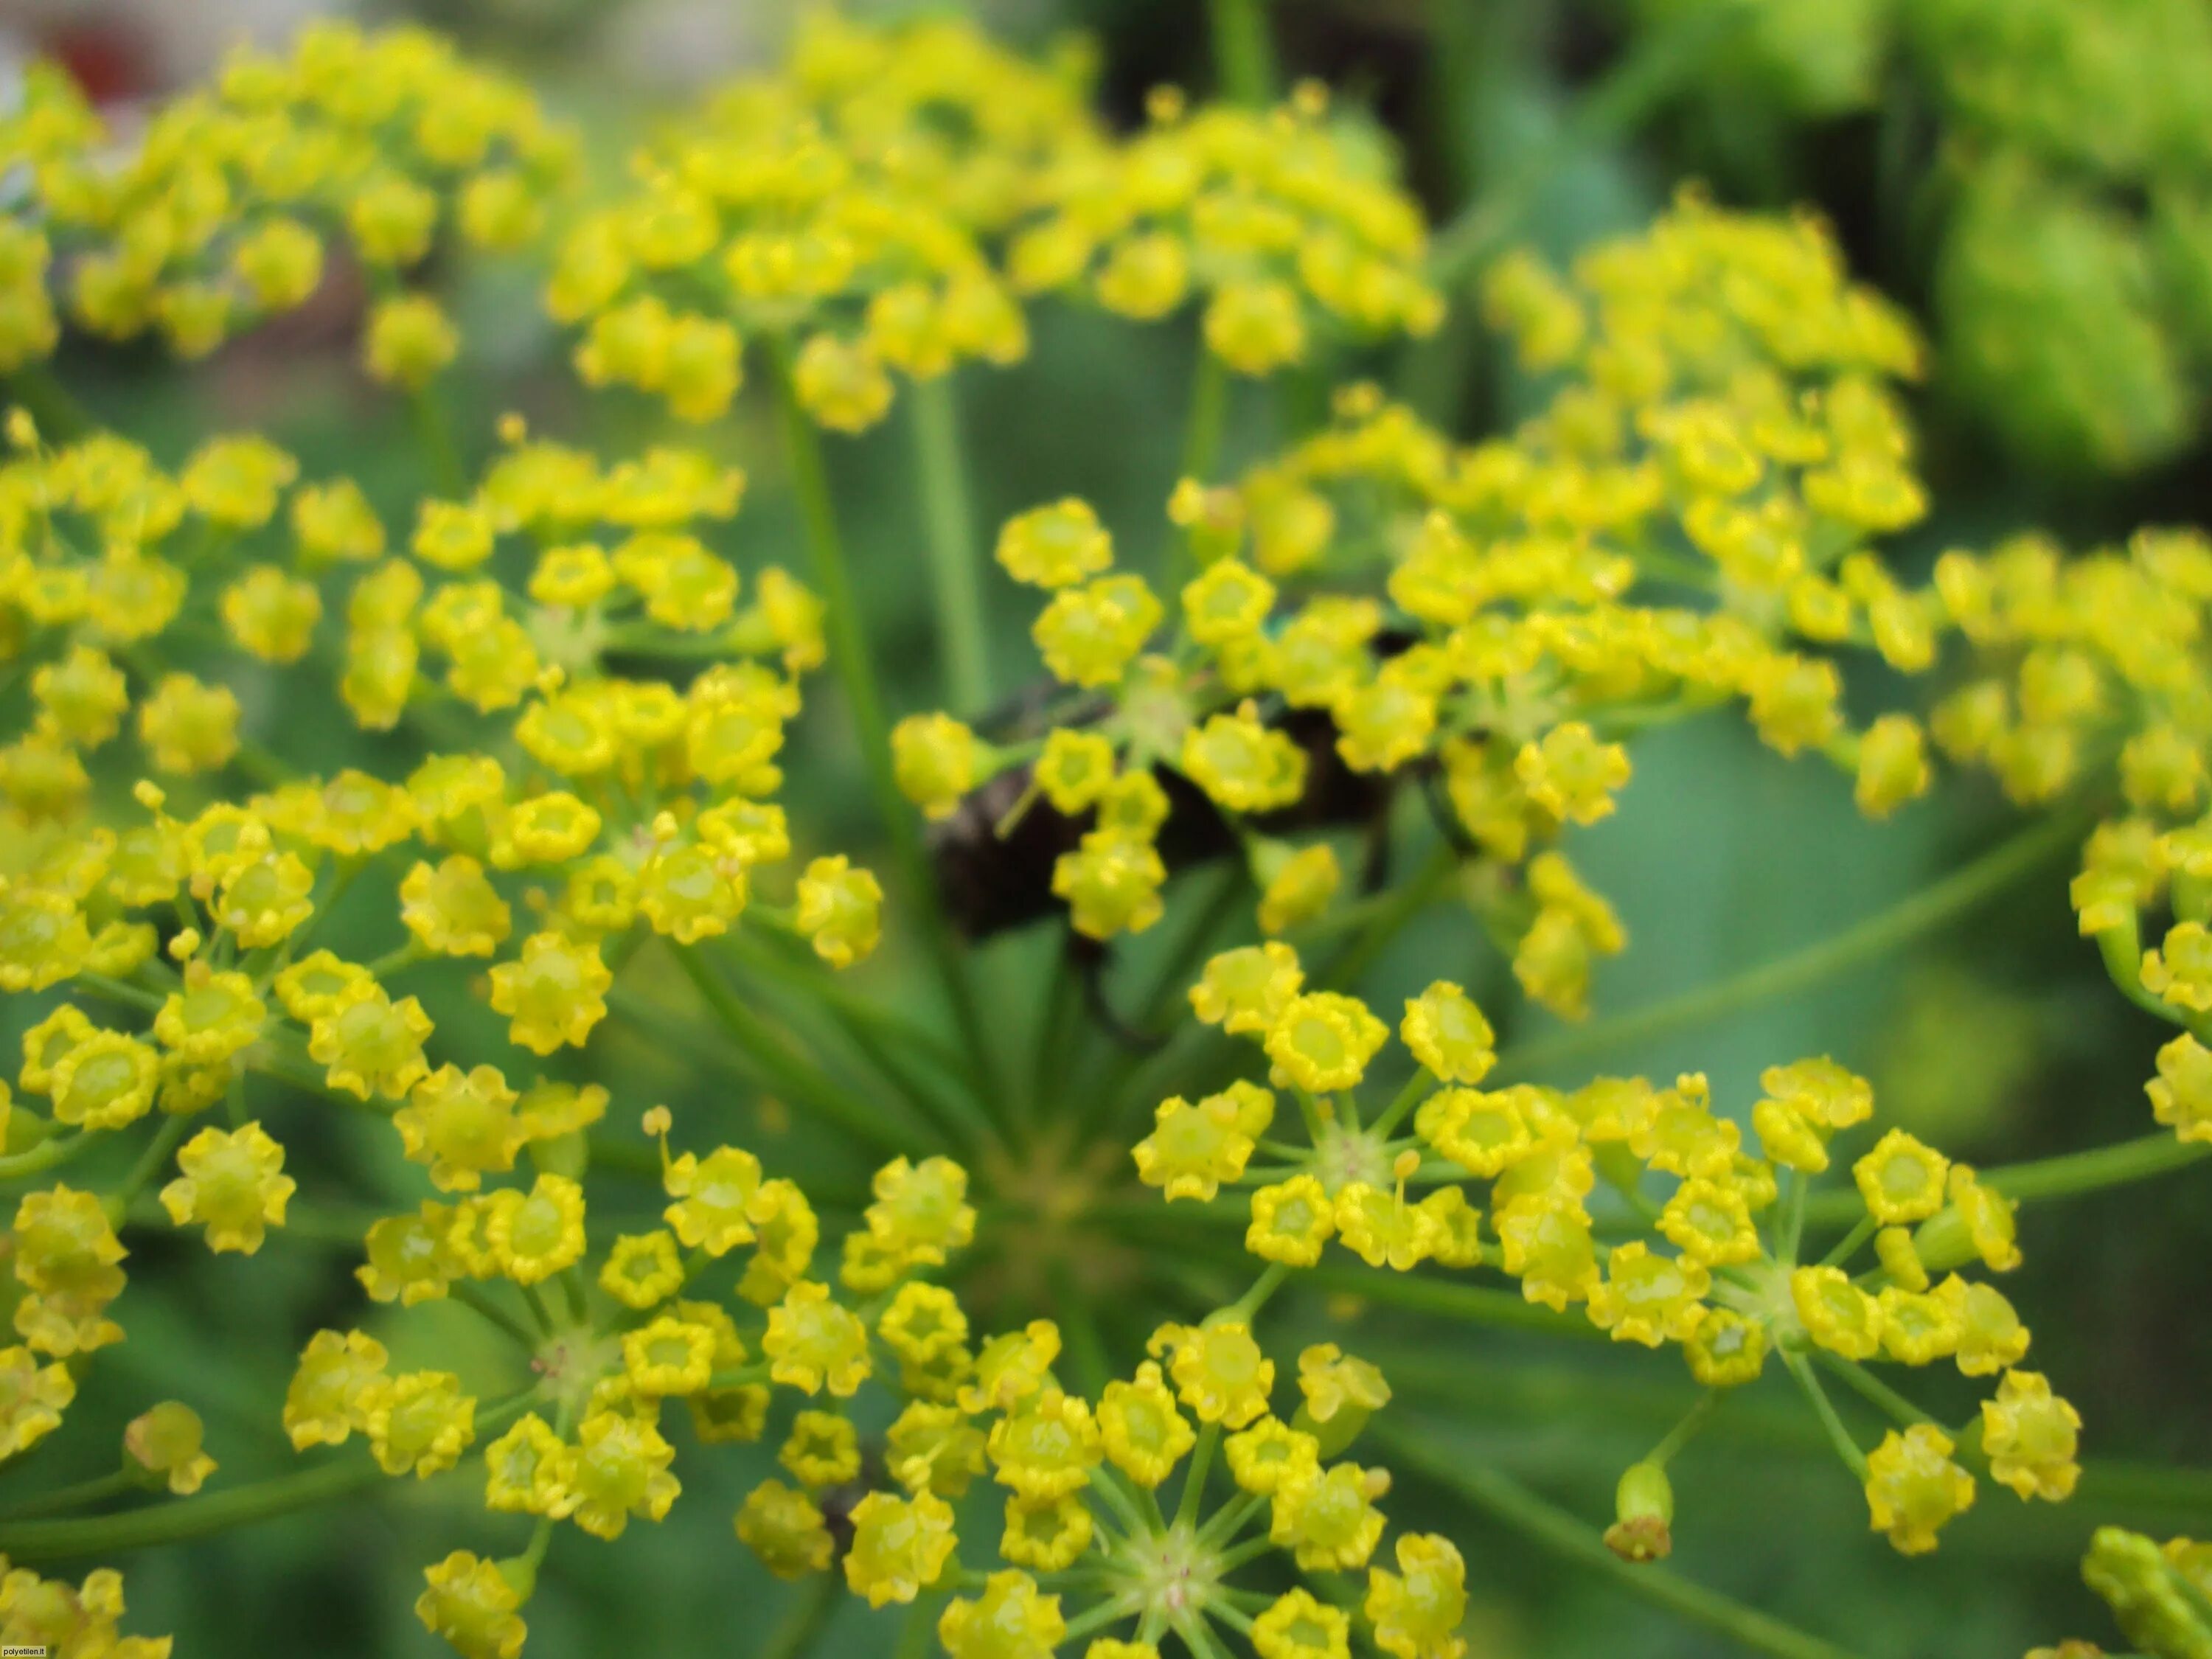
[[(2079, 1416), (2046, 1378), (2015, 1369), (2028, 1332), (2004, 1294), (1960, 1272), (2020, 1265), (2002, 1192), (1893, 1128), (1849, 1166), (1858, 1225), (1825, 1256), (1805, 1250), (1809, 1177), (1874, 1117), (1874, 1091), (1832, 1060), (1767, 1068), (1750, 1110), (1754, 1155), (1701, 1075), (1672, 1088), (1644, 1077), (1482, 1088), (1498, 1060), (1491, 1024), (1438, 982), (1405, 1004), (1413, 1075), (1369, 1121), (1358, 1091), (1389, 1026), (1358, 998), (1307, 989), (1287, 945), (1217, 956), (1190, 1002), (1265, 1051), (1270, 1086), (1164, 1102), (1135, 1148), (1137, 1175), (1170, 1201), (1241, 1188), (1252, 1254), (1312, 1267), (1334, 1241), (1369, 1267), (1498, 1270), (1533, 1303), (1579, 1305), (1613, 1340), (1679, 1345), (1710, 1389), (1741, 1387), (1781, 1354), (1818, 1398), (1818, 1360), (1900, 1418), (1871, 1455), (1849, 1440), (1840, 1451), (1867, 1484), (1874, 1526), (1905, 1553), (1933, 1548), (1975, 1482), (1953, 1462), (1958, 1444), (1865, 1363), (2002, 1374), (1973, 1460), (2022, 1498), (2073, 1491)], [(1274, 1128), (1276, 1091), (1298, 1104), (1303, 1148)], [(1471, 1179), (1489, 1183), (1486, 1208)], [(1876, 1261), (1854, 1272), (1867, 1243)]]

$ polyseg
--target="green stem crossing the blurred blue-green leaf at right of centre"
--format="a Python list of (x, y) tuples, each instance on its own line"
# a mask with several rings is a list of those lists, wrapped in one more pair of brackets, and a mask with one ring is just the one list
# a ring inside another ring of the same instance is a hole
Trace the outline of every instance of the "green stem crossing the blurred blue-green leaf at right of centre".
[(1509, 1075), (1526, 1077), (1528, 1073), (1577, 1062), (1608, 1048), (1710, 1024), (1721, 1015), (1741, 1013), (1761, 1002), (1803, 991), (1845, 969), (1874, 962), (1924, 933), (1933, 933), (1944, 922), (1986, 902), (2022, 876), (2033, 874), (2062, 847), (2075, 843), (2079, 834), (2081, 818), (2077, 814), (2044, 818), (1997, 843), (1942, 880), (1922, 887), (1902, 902), (1832, 938), (1807, 945), (1801, 951), (1790, 951), (1787, 956), (1776, 956), (1770, 962), (1732, 973), (1714, 984), (1703, 984), (1697, 991), (1599, 1020), (1579, 1031), (1562, 1031), (1542, 1042), (1520, 1044), (1500, 1057), (1495, 1075), (1500, 1079)]

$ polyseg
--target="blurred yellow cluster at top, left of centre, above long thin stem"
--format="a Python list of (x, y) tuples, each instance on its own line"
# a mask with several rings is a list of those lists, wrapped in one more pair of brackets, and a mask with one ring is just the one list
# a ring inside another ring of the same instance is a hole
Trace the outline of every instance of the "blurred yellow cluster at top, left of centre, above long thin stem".
[(805, 20), (781, 73), (639, 153), (637, 186), (562, 239), (546, 305), (584, 332), (577, 372), (712, 420), (768, 338), (807, 414), (860, 431), (894, 369), (1018, 361), (1029, 325), (987, 239), (1091, 139), (1082, 93), (1079, 62), (1031, 66), (969, 24)]

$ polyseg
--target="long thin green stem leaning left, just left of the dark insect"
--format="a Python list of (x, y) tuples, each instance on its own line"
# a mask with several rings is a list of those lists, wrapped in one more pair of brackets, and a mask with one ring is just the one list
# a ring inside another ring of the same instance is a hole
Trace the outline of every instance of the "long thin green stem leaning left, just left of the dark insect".
[(929, 869), (920, 832), (914, 827), (914, 810), (900, 794), (891, 765), (891, 728), (883, 712), (874, 657), (867, 648), (867, 633), (860, 628), (860, 606), (854, 597), (852, 571), (845, 564), (845, 544), (836, 529), (830, 469), (823, 462), (814, 425), (807, 420), (807, 411), (799, 403), (799, 389), (792, 383), (790, 341), (776, 338), (772, 341), (772, 349), (783, 453), (792, 469), (792, 491), (799, 495), (799, 515), (805, 524), (814, 584), (821, 588), (830, 657), (836, 666), (838, 684), (845, 688), (845, 701), (852, 703), (854, 732), (860, 741), (860, 759), (867, 765), (869, 787), (876, 794), (876, 812), (883, 816), (885, 834), (891, 838), (891, 856), (905, 878), (907, 902), (920, 918), (922, 938), (936, 960), (953, 1024), (967, 1044), (975, 1088), (982, 1093), (984, 1104), (993, 1113), (1000, 1113), (1000, 1121), (1004, 1121), (991, 1044), (984, 1040), (982, 1013), (975, 1006), (975, 989), (969, 982), (967, 960), (945, 918), (936, 876)]

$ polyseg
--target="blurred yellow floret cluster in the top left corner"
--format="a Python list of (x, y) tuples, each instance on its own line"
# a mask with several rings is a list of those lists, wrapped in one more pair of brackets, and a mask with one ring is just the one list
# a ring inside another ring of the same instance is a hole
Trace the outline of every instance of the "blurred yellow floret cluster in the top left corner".
[(148, 330), (181, 356), (290, 312), (343, 248), (378, 285), (367, 369), (422, 385), (453, 327), (403, 276), (440, 239), (511, 250), (544, 223), (575, 166), (573, 135), (518, 82), (462, 62), (418, 29), (301, 31), (288, 58), (237, 51), (208, 91), (168, 104), (122, 164), (60, 71), (38, 69), (0, 119), (0, 170), (29, 201), (0, 226), (0, 369), (58, 338), (49, 263), (69, 257), (66, 310), (93, 334)]

